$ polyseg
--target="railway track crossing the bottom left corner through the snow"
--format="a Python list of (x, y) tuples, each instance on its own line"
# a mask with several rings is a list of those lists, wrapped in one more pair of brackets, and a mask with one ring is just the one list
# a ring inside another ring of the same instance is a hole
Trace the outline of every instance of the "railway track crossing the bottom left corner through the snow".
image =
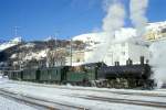
[(25, 105), (40, 108), (39, 110), (89, 110), (87, 108), (84, 108), (84, 107), (54, 102), (54, 101), (50, 101), (50, 100), (45, 100), (41, 98), (34, 98), (31, 96), (14, 94), (4, 89), (0, 89), (0, 95), (6, 98), (10, 98), (15, 101), (19, 101), (19, 102), (23, 102)]

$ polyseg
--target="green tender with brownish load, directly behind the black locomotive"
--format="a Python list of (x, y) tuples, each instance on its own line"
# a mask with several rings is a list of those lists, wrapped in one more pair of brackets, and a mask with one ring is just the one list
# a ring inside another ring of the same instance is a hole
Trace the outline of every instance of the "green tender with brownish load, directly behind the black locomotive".
[(89, 63), (71, 67), (66, 72), (66, 81), (73, 85), (92, 86), (92, 82), (97, 78), (97, 68), (105, 64)]

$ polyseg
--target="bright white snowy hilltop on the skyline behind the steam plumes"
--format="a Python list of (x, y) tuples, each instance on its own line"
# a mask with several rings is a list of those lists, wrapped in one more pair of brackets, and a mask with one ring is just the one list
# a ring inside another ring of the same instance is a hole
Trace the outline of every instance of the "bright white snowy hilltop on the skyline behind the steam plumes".
[[(166, 33), (166, 21), (164, 22), (154, 22), (154, 23), (148, 23), (146, 26), (146, 33), (147, 32), (153, 32), (153, 33)], [(73, 36), (73, 40), (77, 41), (83, 41), (83, 42), (100, 42), (102, 41), (104, 33), (87, 33), (87, 34), (81, 34)], [(117, 30), (115, 32), (115, 40), (116, 41), (124, 41), (129, 37), (135, 37), (136, 36), (136, 30), (134, 28), (122, 28), (121, 30)], [(146, 36), (145, 36), (146, 37)]]

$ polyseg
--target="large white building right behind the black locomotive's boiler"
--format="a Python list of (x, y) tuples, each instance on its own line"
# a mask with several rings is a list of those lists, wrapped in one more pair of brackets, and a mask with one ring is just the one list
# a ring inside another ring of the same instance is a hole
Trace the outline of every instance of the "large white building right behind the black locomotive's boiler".
[(115, 65), (115, 62), (118, 62), (120, 65), (126, 65), (126, 61), (129, 58), (133, 64), (139, 64), (141, 56), (144, 56), (145, 61), (149, 59), (147, 44), (124, 41), (112, 44), (103, 62), (110, 66)]

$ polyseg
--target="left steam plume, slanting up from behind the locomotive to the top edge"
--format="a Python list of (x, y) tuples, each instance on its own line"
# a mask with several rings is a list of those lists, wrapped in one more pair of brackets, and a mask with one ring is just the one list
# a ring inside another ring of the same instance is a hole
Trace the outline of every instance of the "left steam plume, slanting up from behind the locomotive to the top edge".
[(114, 33), (124, 25), (125, 10), (120, 0), (105, 0), (106, 16), (103, 19), (102, 43), (94, 50), (90, 62), (102, 62), (114, 40)]

